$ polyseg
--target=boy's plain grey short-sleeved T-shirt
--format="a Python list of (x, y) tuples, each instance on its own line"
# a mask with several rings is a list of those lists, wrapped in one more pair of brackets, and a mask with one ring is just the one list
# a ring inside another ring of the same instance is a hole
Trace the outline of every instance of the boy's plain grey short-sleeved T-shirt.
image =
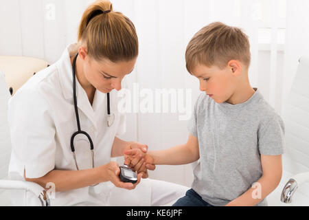
[[(225, 206), (262, 177), (260, 155), (284, 153), (284, 122), (257, 89), (241, 104), (201, 94), (188, 129), (200, 152), (192, 188), (213, 206)], [(257, 206), (267, 206), (266, 199)]]

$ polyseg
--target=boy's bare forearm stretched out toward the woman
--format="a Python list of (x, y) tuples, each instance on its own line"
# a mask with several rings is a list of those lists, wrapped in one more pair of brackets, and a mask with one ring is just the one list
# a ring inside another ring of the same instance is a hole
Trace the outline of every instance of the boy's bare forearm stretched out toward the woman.
[[(190, 164), (200, 158), (198, 137), (189, 135), (187, 143), (161, 151), (148, 151), (152, 157), (152, 164), (181, 165)], [(146, 164), (146, 168), (148, 165)]]

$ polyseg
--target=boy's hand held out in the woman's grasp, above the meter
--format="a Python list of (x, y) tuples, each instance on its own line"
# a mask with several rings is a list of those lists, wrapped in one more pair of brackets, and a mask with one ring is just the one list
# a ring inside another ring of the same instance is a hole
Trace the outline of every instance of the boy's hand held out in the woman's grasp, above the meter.
[(140, 148), (124, 151), (125, 164), (132, 167), (137, 173), (143, 173), (143, 178), (148, 177), (148, 170), (155, 170), (153, 159)]

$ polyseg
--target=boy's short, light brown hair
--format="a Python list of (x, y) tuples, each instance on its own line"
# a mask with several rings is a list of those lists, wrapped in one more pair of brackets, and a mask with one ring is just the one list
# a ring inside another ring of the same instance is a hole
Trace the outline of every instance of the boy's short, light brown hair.
[(187, 45), (185, 62), (187, 71), (192, 73), (196, 65), (220, 69), (231, 60), (250, 65), (250, 43), (240, 28), (230, 27), (221, 22), (211, 23), (199, 30)]

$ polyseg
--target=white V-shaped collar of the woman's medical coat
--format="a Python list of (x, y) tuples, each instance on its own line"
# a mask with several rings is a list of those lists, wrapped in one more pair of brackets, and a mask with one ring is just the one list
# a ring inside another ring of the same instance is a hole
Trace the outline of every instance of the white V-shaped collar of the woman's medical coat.
[[(73, 69), (71, 65), (70, 56), (74, 56), (78, 51), (78, 45), (71, 44), (68, 45), (63, 52), (60, 60), (58, 61), (58, 69), (59, 69), (59, 78), (62, 94), (65, 99), (70, 100), (73, 104), (73, 80), (72, 74)], [(106, 94), (95, 90), (95, 97), (93, 99), (93, 106), (91, 106), (86, 91), (82, 88), (78, 79), (76, 78), (76, 97), (78, 102), (78, 109), (80, 109), (89, 120), (91, 120), (95, 129), (97, 129), (97, 124), (95, 120), (95, 112), (98, 112), (102, 103), (106, 102)]]

